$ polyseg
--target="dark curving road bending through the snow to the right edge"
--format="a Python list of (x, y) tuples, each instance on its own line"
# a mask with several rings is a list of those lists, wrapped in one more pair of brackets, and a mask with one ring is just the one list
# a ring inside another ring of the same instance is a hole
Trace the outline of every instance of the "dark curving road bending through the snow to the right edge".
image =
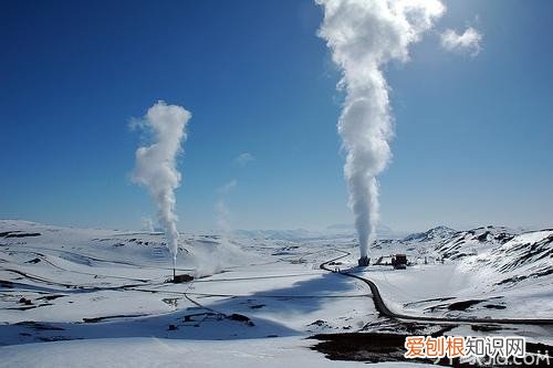
[[(335, 259), (328, 260), (326, 262), (323, 262), (320, 267), (325, 271), (333, 272), (332, 269), (327, 266), (328, 263), (341, 260), (343, 257), (348, 256), (349, 252), (342, 251), (342, 250), (335, 250), (337, 252), (345, 253), (341, 256), (337, 256)], [(373, 301), (375, 303), (376, 311), (380, 313), (380, 315), (389, 318), (396, 318), (396, 319), (407, 319), (407, 320), (417, 320), (417, 322), (430, 322), (430, 323), (469, 323), (469, 324), (502, 324), (502, 325), (553, 325), (553, 319), (551, 318), (463, 318), (463, 317), (426, 317), (426, 316), (411, 316), (411, 315), (406, 315), (406, 314), (400, 314), (400, 313), (394, 313), (392, 312), (386, 304), (384, 303), (380, 292), (378, 291), (378, 287), (374, 282), (372, 282), (368, 278), (362, 277), (359, 275), (341, 271), (341, 275), (347, 276), (347, 277), (354, 277), (357, 278), (371, 287), (371, 292), (373, 293)]]

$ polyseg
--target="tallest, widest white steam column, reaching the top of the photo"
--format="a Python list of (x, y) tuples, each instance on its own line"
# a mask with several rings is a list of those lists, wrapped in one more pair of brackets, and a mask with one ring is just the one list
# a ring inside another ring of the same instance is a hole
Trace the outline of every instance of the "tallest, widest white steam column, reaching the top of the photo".
[(432, 27), (439, 0), (315, 0), (323, 7), (319, 35), (342, 71), (346, 96), (338, 133), (346, 153), (344, 174), (355, 215), (361, 256), (368, 254), (378, 221), (376, 177), (388, 165), (394, 135), (383, 66), (408, 61), (408, 46)]

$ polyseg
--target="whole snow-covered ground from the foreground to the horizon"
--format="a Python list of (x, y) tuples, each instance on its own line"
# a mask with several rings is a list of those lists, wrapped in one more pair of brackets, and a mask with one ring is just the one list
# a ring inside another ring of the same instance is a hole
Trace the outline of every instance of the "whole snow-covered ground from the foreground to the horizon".
[[(0, 367), (336, 366), (306, 338), (387, 322), (366, 284), (320, 269), (356, 264), (353, 234), (294, 233), (182, 234), (177, 273), (196, 278), (173, 284), (161, 233), (0, 221)], [(436, 228), (379, 241), (371, 256), (382, 265), (355, 272), (404, 314), (553, 318), (552, 240)], [(386, 265), (396, 253), (407, 270)], [(553, 330), (509, 334), (551, 344)]]

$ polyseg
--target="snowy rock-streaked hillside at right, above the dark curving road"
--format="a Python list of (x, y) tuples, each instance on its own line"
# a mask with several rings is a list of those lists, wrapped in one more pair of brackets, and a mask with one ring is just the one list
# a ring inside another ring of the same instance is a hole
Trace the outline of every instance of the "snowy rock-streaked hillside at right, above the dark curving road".
[[(504, 227), (438, 227), (397, 241), (380, 240), (372, 251), (383, 262), (395, 253), (406, 253), (413, 269), (396, 280), (386, 273), (374, 273), (373, 278), (398, 311), (489, 315), (497, 309), (494, 316), (533, 311), (553, 316), (553, 230), (521, 234)], [(429, 302), (411, 302), (417, 298)], [(469, 307), (458, 311), (457, 305)]]

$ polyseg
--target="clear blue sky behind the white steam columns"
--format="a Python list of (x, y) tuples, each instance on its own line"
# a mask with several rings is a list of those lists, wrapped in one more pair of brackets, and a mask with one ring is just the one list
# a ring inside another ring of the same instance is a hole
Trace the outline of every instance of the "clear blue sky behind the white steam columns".
[[(382, 221), (553, 225), (553, 2), (446, 1), (411, 62), (388, 65), (394, 161)], [(128, 129), (158, 99), (192, 113), (179, 160), (181, 230), (216, 228), (217, 189), (242, 229), (348, 223), (338, 73), (311, 1), (2, 1), (0, 218), (138, 229)], [(478, 17), (478, 19), (477, 19)], [(438, 32), (483, 34), (476, 57)], [(242, 153), (254, 160), (233, 162)]]

